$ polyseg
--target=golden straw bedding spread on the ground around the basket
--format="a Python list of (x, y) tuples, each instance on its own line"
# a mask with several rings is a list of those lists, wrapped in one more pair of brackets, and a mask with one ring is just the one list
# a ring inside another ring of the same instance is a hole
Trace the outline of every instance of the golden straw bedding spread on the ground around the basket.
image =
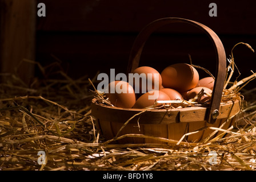
[[(204, 143), (115, 144), (103, 138), (90, 115), (95, 93), (87, 77), (73, 80), (62, 71), (50, 72), (54, 65), (30, 62), (44, 79), (26, 85), (15, 74), (2, 75), (8, 80), (0, 90), (2, 171), (256, 169), (256, 89), (240, 90), (245, 101), (237, 127), (225, 130), (224, 137)], [(39, 151), (46, 152), (46, 164), (38, 164)]]

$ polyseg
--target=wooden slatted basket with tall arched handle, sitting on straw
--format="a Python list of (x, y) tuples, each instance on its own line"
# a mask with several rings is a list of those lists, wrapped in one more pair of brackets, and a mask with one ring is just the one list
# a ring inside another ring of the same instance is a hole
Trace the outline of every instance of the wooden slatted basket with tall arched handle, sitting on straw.
[[(187, 133), (198, 131), (197, 133), (187, 135), (184, 140), (187, 142), (199, 142), (213, 133), (214, 130), (209, 129), (209, 127), (228, 129), (233, 125), (234, 116), (240, 110), (239, 101), (229, 101), (226, 104), (221, 104), (223, 85), (226, 77), (225, 49), (215, 32), (201, 23), (182, 18), (162, 18), (148, 24), (135, 39), (130, 53), (127, 73), (138, 67), (143, 46), (151, 33), (165, 24), (176, 22), (189, 23), (203, 30), (209, 36), (215, 47), (217, 67), (210, 106), (145, 111), (143, 109), (123, 109), (97, 104), (93, 100), (91, 114), (96, 118), (97, 126), (107, 140), (125, 134), (143, 134), (150, 137), (179, 140)], [(141, 113), (142, 111), (144, 112)], [(141, 114), (138, 115), (138, 113)], [(121, 127), (129, 119), (129, 123), (120, 131)], [(218, 131), (214, 136), (221, 133), (221, 131)], [(166, 143), (154, 138), (131, 136), (117, 141), (118, 143)]]

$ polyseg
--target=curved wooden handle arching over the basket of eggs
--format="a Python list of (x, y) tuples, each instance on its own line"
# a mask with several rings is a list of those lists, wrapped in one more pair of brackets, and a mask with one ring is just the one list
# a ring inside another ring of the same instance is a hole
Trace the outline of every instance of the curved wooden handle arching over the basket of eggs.
[(193, 20), (183, 19), (183, 18), (162, 18), (162, 19), (154, 20), (153, 22), (147, 24), (147, 26), (143, 28), (141, 32), (139, 32), (139, 35), (135, 39), (133, 47), (131, 48), (129, 63), (127, 65), (127, 74), (131, 73), (132, 71), (134, 71), (134, 69), (138, 68), (142, 49), (145, 45), (146, 40), (149, 38), (149, 36), (159, 27), (162, 27), (170, 23), (189, 23), (195, 27), (198, 27), (209, 36), (209, 38), (211, 39), (211, 42), (214, 45), (216, 59), (217, 59), (217, 66), (216, 66), (213, 94), (211, 98), (210, 108), (207, 113), (206, 121), (208, 123), (215, 123), (219, 115), (219, 105), (221, 104), (223, 86), (224, 86), (225, 77), (226, 77), (226, 53), (218, 35), (215, 34), (215, 32), (211, 30), (209, 27), (201, 23), (195, 22)]

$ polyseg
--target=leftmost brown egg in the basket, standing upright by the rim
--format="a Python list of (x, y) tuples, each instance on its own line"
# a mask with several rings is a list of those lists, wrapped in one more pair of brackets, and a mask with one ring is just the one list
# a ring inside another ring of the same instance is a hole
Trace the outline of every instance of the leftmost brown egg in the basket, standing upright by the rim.
[[(114, 92), (111, 93), (111, 90)], [(105, 93), (105, 95), (116, 107), (131, 108), (136, 102), (133, 86), (125, 81), (110, 82), (109, 93)]]

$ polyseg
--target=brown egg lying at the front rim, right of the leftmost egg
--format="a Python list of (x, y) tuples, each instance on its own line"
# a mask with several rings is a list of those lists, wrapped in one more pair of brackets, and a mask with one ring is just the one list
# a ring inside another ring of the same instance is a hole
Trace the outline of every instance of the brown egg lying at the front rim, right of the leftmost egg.
[[(145, 107), (153, 106), (155, 101), (169, 101), (169, 100), (170, 100), (170, 97), (166, 93), (159, 90), (153, 90), (139, 97), (138, 100), (135, 102), (133, 108), (143, 109)], [(158, 104), (157, 107), (161, 105), (162, 104)]]

